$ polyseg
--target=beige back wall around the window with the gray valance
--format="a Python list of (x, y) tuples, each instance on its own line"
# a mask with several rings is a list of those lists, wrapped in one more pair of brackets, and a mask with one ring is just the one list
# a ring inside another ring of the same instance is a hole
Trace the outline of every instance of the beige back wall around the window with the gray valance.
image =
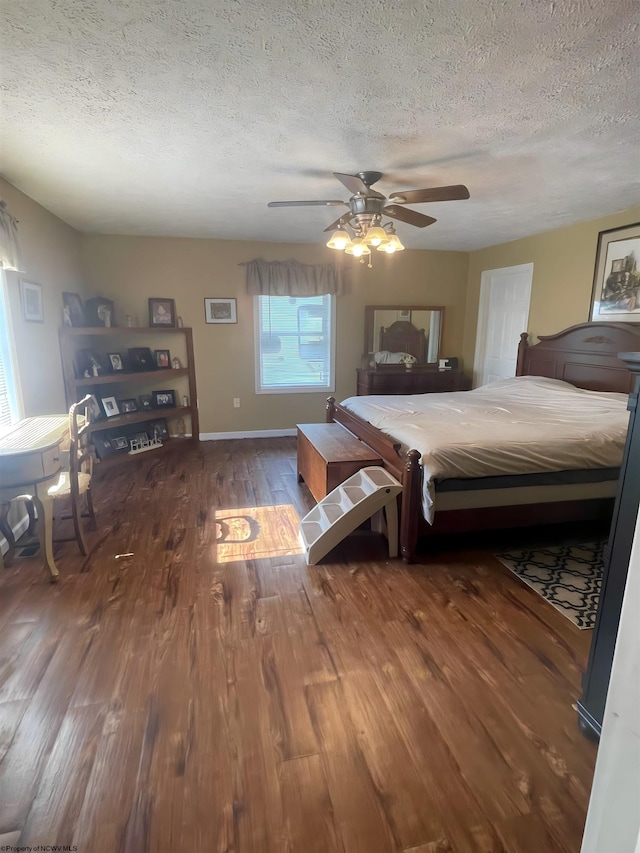
[[(194, 330), (201, 432), (286, 429), (323, 420), (325, 394), (256, 395), (253, 300), (240, 266), (256, 257), (326, 263), (332, 255), (322, 244), (85, 235), (82, 254), (89, 295), (113, 299), (118, 323), (131, 314), (146, 325), (150, 296), (175, 298), (177, 314)], [(461, 354), (466, 253), (405, 251), (376, 256), (373, 269), (344, 260), (351, 278), (337, 303), (338, 399), (355, 393), (367, 304), (446, 306), (443, 352)], [(238, 324), (206, 325), (205, 297), (236, 298)]]

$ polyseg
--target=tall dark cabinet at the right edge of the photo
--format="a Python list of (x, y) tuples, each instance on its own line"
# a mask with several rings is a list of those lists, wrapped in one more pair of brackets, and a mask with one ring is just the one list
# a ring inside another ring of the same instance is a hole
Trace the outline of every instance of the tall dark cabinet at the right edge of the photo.
[(619, 358), (635, 374), (635, 387), (629, 395), (627, 406), (631, 412), (629, 432), (620, 469), (609, 541), (605, 548), (602, 591), (591, 640), (589, 663), (582, 679), (583, 692), (578, 702), (580, 728), (598, 737), (602, 728), (631, 546), (640, 505), (638, 473), (640, 472), (640, 415), (637, 411), (640, 393), (640, 353), (621, 353)]

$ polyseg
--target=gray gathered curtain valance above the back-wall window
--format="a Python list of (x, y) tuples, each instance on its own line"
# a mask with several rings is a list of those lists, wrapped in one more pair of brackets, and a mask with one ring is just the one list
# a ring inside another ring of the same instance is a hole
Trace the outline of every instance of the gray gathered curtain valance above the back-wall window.
[(344, 292), (342, 273), (333, 264), (299, 261), (248, 261), (247, 292), (252, 296), (324, 296)]

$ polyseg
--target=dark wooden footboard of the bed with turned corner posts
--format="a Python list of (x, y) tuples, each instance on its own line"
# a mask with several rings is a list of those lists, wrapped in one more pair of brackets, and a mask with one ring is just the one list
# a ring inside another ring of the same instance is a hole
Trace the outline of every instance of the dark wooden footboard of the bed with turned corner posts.
[(400, 495), (399, 547), (404, 560), (411, 562), (422, 522), (422, 468), (420, 452), (402, 453), (401, 444), (336, 403), (327, 400), (327, 423), (341, 424), (381, 457), (383, 467), (402, 483)]

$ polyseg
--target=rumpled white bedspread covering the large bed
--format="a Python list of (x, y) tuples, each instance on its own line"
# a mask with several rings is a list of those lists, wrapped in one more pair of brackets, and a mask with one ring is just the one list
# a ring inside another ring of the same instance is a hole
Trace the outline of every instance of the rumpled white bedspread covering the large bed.
[(432, 523), (434, 480), (619, 466), (627, 399), (519, 376), (475, 391), (349, 397), (342, 405), (405, 450), (420, 451), (423, 510)]

